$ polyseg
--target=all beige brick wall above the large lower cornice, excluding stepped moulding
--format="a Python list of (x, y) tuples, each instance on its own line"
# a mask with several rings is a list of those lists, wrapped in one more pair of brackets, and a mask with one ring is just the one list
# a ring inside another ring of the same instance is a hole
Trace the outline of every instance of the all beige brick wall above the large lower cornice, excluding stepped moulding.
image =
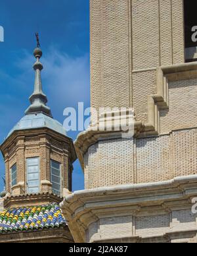
[[(91, 106), (131, 106), (136, 120), (148, 123), (148, 95), (158, 93), (156, 68), (185, 62), (183, 1), (90, 3)], [(196, 174), (197, 80), (178, 75), (167, 80), (169, 109), (158, 114), (160, 136), (90, 146), (86, 188)]]

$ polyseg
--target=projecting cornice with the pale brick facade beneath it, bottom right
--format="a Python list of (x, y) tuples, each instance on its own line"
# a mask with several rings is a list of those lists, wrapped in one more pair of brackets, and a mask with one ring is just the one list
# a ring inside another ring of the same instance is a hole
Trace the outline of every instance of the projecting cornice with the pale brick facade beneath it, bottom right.
[(192, 243), (196, 185), (197, 176), (187, 176), (77, 191), (64, 199), (62, 210), (75, 241)]

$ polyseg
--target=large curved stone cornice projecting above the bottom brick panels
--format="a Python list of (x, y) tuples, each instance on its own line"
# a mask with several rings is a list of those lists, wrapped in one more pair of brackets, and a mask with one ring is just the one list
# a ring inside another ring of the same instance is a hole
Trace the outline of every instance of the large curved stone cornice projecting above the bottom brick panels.
[(85, 231), (92, 222), (106, 216), (145, 216), (166, 214), (173, 209), (192, 207), (197, 196), (197, 175), (170, 181), (100, 187), (76, 191), (60, 204), (76, 241), (84, 242)]

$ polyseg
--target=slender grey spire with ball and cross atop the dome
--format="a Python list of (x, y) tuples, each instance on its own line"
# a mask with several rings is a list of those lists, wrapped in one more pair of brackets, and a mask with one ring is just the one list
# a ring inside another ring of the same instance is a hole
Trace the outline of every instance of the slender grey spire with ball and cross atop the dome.
[(37, 48), (34, 49), (33, 55), (36, 58), (36, 61), (33, 65), (33, 69), (35, 71), (35, 83), (34, 83), (34, 91), (32, 96), (30, 96), (30, 107), (26, 110), (26, 115), (32, 113), (44, 113), (45, 115), (49, 115), (52, 117), (51, 109), (46, 105), (47, 104), (47, 96), (43, 93), (42, 82), (41, 82), (41, 70), (43, 69), (42, 63), (39, 59), (42, 57), (43, 53), (41, 51), (39, 44), (39, 35), (35, 34), (37, 40)]

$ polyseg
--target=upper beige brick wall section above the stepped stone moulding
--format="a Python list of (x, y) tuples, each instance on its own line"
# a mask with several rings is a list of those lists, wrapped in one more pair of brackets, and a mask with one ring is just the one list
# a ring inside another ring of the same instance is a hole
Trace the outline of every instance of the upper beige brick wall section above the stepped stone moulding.
[(185, 61), (183, 1), (90, 2), (91, 106), (133, 106), (146, 122), (147, 96), (156, 92), (147, 69)]

